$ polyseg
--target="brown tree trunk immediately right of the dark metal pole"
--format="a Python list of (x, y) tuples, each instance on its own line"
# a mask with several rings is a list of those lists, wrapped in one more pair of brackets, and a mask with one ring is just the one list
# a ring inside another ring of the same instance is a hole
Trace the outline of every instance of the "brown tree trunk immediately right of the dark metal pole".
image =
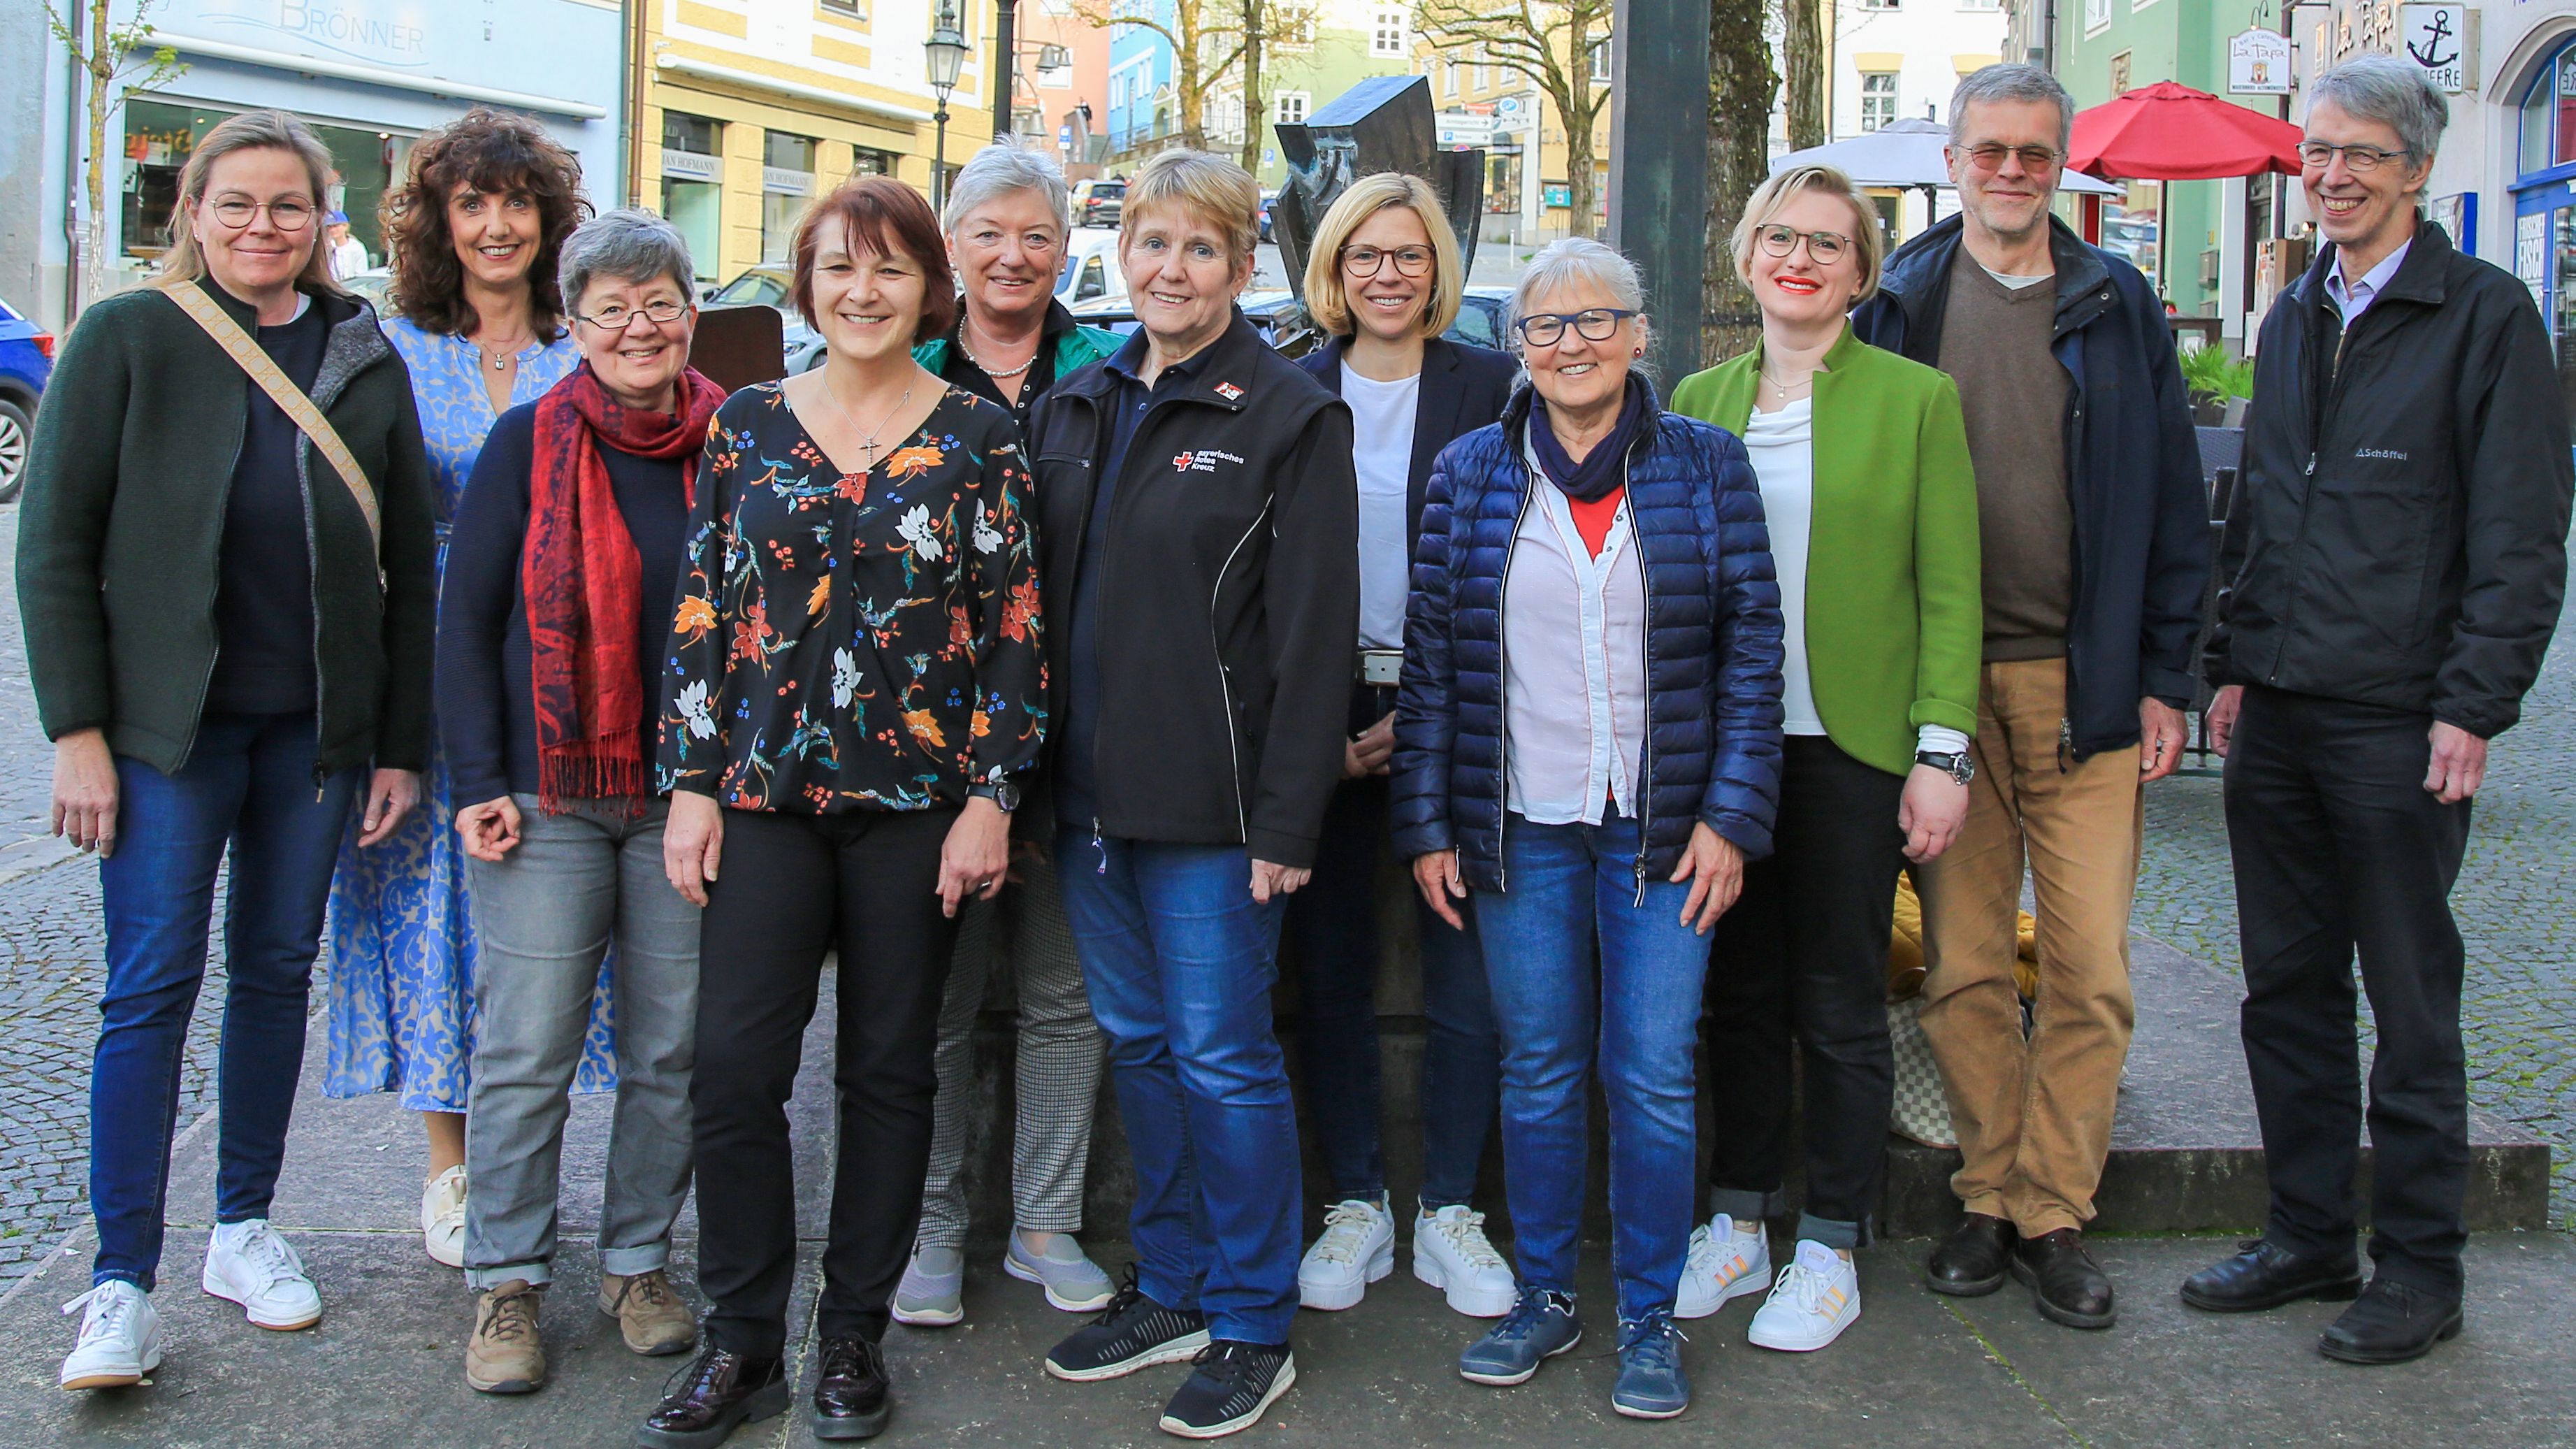
[(1721, 364), (1762, 335), (1754, 299), (1736, 281), (1736, 219), (1770, 175), (1770, 103), (1780, 88), (1762, 39), (1762, 0), (1708, 8), (1708, 242), (1700, 281), (1700, 366)]

